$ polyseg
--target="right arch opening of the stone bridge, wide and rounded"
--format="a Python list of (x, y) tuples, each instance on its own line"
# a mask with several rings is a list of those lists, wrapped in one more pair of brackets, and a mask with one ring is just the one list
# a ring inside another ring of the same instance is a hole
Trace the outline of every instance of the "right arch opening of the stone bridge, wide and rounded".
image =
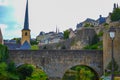
[[(87, 72), (85, 73), (84, 70), (87, 70)], [(75, 65), (71, 68), (68, 68), (63, 74), (62, 80), (76, 80), (76, 76), (88, 76), (87, 74), (90, 74), (91, 77), (93, 77), (91, 80), (99, 80), (99, 75), (97, 71), (88, 65)]]

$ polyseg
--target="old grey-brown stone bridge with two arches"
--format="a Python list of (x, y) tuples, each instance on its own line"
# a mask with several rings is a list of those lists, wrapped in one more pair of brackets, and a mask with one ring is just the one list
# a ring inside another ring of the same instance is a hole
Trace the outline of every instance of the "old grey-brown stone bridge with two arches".
[(17, 66), (28, 63), (42, 68), (50, 80), (61, 80), (65, 72), (86, 65), (99, 76), (103, 73), (103, 51), (100, 50), (10, 50), (9, 60)]

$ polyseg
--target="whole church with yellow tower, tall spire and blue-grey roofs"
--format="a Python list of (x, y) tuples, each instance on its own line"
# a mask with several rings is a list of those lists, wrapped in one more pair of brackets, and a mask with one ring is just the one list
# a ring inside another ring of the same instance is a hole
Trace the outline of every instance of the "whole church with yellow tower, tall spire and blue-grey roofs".
[[(0, 30), (0, 36), (2, 35)], [(25, 11), (25, 20), (24, 27), (22, 29), (21, 43), (16, 43), (14, 40), (8, 40), (4, 42), (4, 45), (8, 47), (9, 50), (30, 50), (30, 29), (29, 29), (29, 14), (28, 14), (28, 0), (26, 1), (26, 11)], [(0, 37), (0, 44), (3, 44), (3, 38)]]

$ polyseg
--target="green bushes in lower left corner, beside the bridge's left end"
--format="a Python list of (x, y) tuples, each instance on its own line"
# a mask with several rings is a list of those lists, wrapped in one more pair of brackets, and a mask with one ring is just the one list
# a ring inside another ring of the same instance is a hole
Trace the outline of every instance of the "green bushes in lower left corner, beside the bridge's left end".
[(15, 66), (7, 64), (8, 49), (0, 45), (0, 80), (18, 80), (19, 77), (14, 73)]

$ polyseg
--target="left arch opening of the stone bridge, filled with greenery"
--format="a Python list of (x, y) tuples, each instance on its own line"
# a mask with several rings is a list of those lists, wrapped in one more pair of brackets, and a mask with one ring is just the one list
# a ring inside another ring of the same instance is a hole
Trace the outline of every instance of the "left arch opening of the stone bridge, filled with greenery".
[[(31, 68), (30, 68), (30, 67)], [(25, 68), (27, 67), (27, 68)], [(22, 70), (22, 71), (21, 71)], [(42, 67), (40, 66), (36, 66), (33, 64), (28, 64), (28, 63), (21, 63), (19, 66), (16, 66), (16, 71), (18, 74), (23, 73), (24, 74), (30, 74), (29, 77), (30, 79), (35, 78), (36, 76), (38, 76), (39, 79), (42, 80), (47, 80), (49, 78), (49, 76), (47, 75), (47, 73), (43, 70)], [(30, 72), (29, 72), (30, 71)], [(32, 71), (32, 72), (31, 72)], [(35, 75), (34, 75), (35, 74)], [(20, 74), (21, 75), (21, 74)], [(41, 77), (40, 77), (41, 76)], [(44, 77), (44, 78), (43, 78)], [(38, 80), (37, 78), (37, 80)], [(36, 79), (36, 78), (35, 78)]]

